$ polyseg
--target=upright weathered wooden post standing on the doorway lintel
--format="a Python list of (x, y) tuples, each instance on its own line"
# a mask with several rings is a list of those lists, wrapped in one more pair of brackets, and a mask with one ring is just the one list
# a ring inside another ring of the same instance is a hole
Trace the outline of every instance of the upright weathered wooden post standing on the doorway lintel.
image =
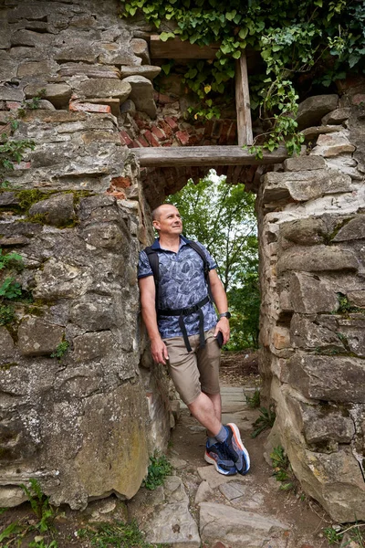
[(252, 144), (250, 92), (248, 90), (247, 62), (245, 52), (236, 62), (235, 68), (235, 108), (237, 111), (238, 144)]

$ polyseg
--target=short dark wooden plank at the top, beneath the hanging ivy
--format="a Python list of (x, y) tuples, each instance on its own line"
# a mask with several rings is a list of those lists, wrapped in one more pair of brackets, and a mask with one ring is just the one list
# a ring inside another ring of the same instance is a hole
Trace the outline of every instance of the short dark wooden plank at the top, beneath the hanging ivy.
[(218, 48), (219, 44), (197, 46), (179, 37), (162, 42), (159, 35), (151, 35), (150, 40), (151, 58), (155, 59), (214, 59)]

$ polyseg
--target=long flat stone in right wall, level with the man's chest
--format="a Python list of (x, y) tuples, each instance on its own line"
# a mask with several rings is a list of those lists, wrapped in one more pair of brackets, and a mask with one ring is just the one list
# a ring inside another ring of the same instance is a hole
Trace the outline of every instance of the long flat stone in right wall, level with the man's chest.
[(347, 249), (328, 246), (308, 248), (290, 248), (278, 259), (276, 273), (281, 275), (287, 270), (325, 272), (330, 270), (358, 270), (358, 259)]

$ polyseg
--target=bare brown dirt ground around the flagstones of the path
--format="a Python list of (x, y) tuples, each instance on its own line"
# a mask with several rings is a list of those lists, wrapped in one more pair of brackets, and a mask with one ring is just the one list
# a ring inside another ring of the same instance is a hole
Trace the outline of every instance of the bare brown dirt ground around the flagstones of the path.
[[(230, 353), (229, 355), (224, 355), (221, 372), (222, 384), (226, 386), (244, 385), (245, 387), (255, 387), (260, 383), (257, 369), (257, 355), (255, 353)], [(256, 491), (264, 490), (265, 513), (282, 522), (287, 522), (291, 526), (290, 533), (288, 533), (287, 548), (328, 548), (329, 543), (324, 534), (324, 529), (331, 527), (333, 522), (328, 514), (319, 507), (317, 502), (309, 500), (300, 489), (297, 492), (294, 490), (280, 490), (280, 483), (272, 477), (273, 469), (266, 463), (264, 458), (264, 446), (267, 434), (268, 431), (263, 432), (258, 437), (255, 437), (255, 439), (245, 437), (245, 446), (250, 453), (252, 462), (250, 475), (255, 478), (253, 496)], [(185, 488), (188, 491), (191, 501), (191, 511), (197, 521), (199, 509), (194, 506), (193, 501), (199, 484), (196, 469), (206, 464), (203, 460), (204, 444), (205, 433), (198, 427), (198, 423), (190, 416), (188, 410), (184, 409), (181, 419), (172, 432), (168, 457), (170, 455), (174, 458), (182, 458), (188, 462), (188, 466), (185, 469), (179, 470), (179, 475), (182, 477)], [(214, 502), (224, 503), (224, 497), (219, 490), (217, 490)], [(75, 546), (87, 548), (92, 545), (100, 547), (112, 545), (123, 546), (123, 544), (118, 543), (92, 544), (91, 541), (80, 538), (77, 533), (78, 530), (90, 522), (102, 521), (128, 521), (128, 503), (118, 501), (113, 496), (108, 500), (90, 502), (86, 511), (70, 511), (68, 507), (59, 508), (57, 509), (55, 521), (57, 533), (51, 535), (46, 532), (44, 543), (42, 544), (41, 540), (39, 540), (39, 543), (34, 546), (47, 548), (52, 538), (57, 540), (58, 548), (73, 548)], [(36, 516), (31, 511), (28, 503), (16, 509), (4, 511), (0, 515), (0, 539), (1, 532), (4, 532), (10, 523), (15, 522), (23, 527), (23, 531), (26, 527), (36, 525)], [(17, 540), (14, 538), (10, 542), (8, 540), (0, 541), (0, 547), (25, 548), (29, 546), (30, 541), (34, 538), (34, 533), (26, 535), (19, 543), (20, 538), (20, 536), (17, 536)], [(141, 545), (136, 544), (136, 547)], [(362, 543), (346, 545), (351, 546), (351, 548), (365, 546)]]

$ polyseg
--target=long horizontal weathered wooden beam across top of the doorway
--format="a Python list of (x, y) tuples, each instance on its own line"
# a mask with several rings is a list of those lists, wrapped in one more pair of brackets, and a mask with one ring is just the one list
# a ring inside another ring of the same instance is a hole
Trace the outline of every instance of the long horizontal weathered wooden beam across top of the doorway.
[(172, 146), (130, 149), (136, 154), (141, 167), (180, 167), (193, 165), (261, 165), (282, 163), (288, 157), (285, 146), (274, 153), (264, 153), (261, 160), (249, 149), (240, 146)]

